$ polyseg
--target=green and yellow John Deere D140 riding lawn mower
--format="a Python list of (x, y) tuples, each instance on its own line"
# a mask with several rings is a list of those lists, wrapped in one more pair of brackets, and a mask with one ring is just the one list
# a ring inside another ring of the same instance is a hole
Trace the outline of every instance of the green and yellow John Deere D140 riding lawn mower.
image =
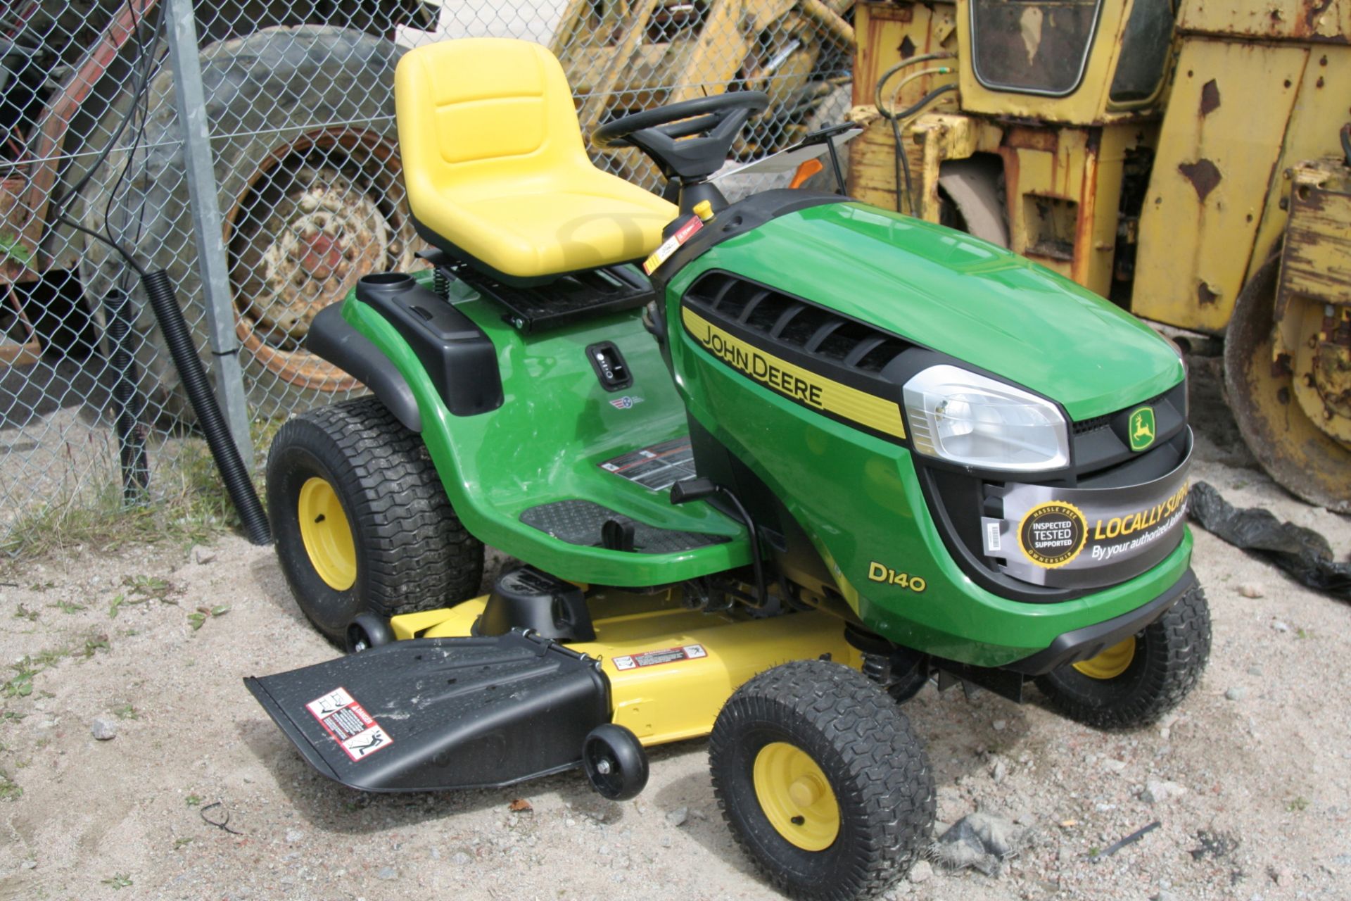
[[(396, 100), (431, 267), (319, 313), (308, 347), (372, 396), (290, 420), (267, 465), (296, 600), (355, 652), (247, 685), (326, 775), (581, 766), (627, 798), (646, 747), (708, 735), (766, 878), (850, 898), (931, 829), (900, 705), (931, 678), (1035, 684), (1100, 728), (1196, 685), (1167, 342), (940, 226), (809, 190), (728, 204), (709, 176), (761, 93), (594, 131), (676, 204), (590, 163), (536, 45), (415, 50)], [(520, 565), (471, 597), (485, 543)]]

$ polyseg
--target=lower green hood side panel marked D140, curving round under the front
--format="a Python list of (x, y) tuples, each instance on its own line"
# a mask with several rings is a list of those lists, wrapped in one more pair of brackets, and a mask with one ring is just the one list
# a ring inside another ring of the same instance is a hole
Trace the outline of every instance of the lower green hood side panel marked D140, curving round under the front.
[[(1062, 632), (1147, 604), (1188, 569), (1190, 534), (1150, 571), (1073, 601), (1029, 604), (988, 592), (943, 544), (908, 448), (742, 377), (684, 330), (673, 338), (690, 413), (808, 527), (844, 600), (869, 628), (900, 644), (975, 666), (1012, 663)], [(873, 563), (920, 577), (924, 590), (870, 581)]]

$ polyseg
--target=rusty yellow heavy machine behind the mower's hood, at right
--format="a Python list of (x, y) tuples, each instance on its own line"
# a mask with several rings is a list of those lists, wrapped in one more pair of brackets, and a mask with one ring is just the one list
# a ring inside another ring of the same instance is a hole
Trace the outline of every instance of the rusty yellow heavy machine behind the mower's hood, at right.
[(855, 32), (854, 196), (1224, 335), (1254, 455), (1351, 512), (1351, 7), (902, 0)]

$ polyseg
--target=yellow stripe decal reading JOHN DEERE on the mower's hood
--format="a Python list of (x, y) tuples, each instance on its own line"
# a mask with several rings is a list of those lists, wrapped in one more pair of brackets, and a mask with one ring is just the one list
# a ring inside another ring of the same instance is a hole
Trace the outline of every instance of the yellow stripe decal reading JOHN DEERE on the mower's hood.
[(901, 408), (896, 401), (823, 378), (809, 369), (766, 354), (712, 324), (689, 307), (682, 311), (685, 328), (704, 350), (785, 397), (827, 413), (866, 426), (884, 435), (905, 438)]

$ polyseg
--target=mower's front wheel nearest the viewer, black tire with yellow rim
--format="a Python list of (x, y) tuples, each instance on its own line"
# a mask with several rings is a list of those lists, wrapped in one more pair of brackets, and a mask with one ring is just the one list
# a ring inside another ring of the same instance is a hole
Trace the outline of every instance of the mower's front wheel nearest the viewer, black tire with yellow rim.
[(708, 754), (732, 836), (792, 898), (886, 890), (934, 825), (934, 777), (909, 720), (839, 663), (757, 675), (723, 706)]

